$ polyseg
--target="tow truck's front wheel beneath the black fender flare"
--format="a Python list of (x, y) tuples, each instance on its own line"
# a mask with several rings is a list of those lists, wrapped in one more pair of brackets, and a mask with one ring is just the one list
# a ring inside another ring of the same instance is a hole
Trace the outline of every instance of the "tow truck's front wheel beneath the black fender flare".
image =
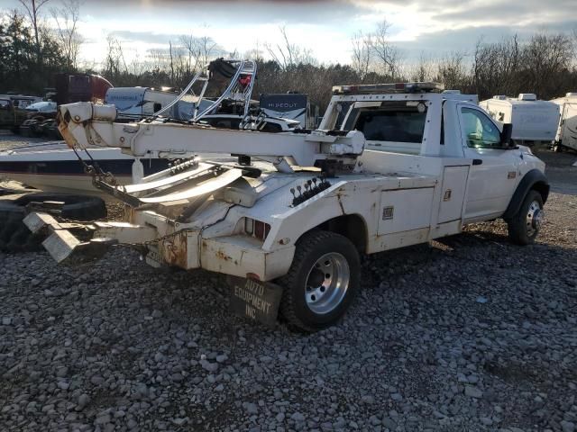
[[(534, 210), (535, 206), (538, 211)], [(543, 197), (536, 190), (530, 190), (517, 214), (507, 221), (509, 239), (521, 246), (535, 243), (542, 217)]]

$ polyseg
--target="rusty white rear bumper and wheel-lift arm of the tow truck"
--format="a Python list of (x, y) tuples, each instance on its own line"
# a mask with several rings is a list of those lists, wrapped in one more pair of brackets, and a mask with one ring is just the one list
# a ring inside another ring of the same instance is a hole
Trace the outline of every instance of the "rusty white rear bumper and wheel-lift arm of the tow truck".
[(260, 240), (245, 235), (202, 238), (201, 231), (195, 229), (160, 237), (155, 227), (125, 222), (67, 224), (46, 213), (31, 213), (23, 221), (32, 232), (44, 233), (42, 246), (59, 263), (100, 257), (107, 247), (125, 244), (146, 247), (146, 261), (151, 266), (204, 268), (270, 281), (288, 272), (295, 253), (294, 246), (263, 250)]

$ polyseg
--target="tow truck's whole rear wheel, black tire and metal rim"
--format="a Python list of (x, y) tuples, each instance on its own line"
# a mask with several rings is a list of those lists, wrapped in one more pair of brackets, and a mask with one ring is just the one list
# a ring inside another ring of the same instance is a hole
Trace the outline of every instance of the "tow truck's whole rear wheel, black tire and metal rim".
[(340, 234), (311, 231), (297, 242), (283, 287), (280, 312), (289, 326), (313, 332), (343, 317), (358, 290), (361, 259), (353, 243)]

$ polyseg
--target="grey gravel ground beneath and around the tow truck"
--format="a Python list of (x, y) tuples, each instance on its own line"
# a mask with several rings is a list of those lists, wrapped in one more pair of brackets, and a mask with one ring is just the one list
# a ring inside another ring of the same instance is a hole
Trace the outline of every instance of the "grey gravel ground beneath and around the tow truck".
[(572, 432), (577, 193), (558, 184), (535, 246), (496, 221), (368, 257), (312, 336), (231, 317), (220, 278), (130, 249), (0, 254), (1, 429)]

